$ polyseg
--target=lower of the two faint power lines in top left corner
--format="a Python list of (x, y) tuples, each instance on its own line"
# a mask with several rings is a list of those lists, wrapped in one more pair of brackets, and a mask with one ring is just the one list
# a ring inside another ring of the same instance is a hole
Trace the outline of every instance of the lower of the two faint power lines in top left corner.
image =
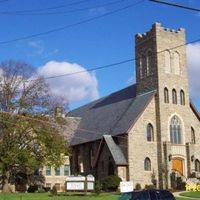
[(73, 9), (73, 10), (68, 10), (68, 11), (57, 11), (57, 12), (32, 12), (32, 13), (26, 13), (26, 12), (19, 12), (19, 11), (12, 11), (12, 12), (2, 12), (0, 11), (0, 14), (2, 15), (31, 15), (31, 16), (38, 16), (38, 15), (57, 15), (57, 14), (69, 14), (69, 13), (74, 13), (74, 12), (80, 12), (80, 11), (85, 11), (85, 10), (90, 10), (90, 9), (96, 9), (96, 8), (100, 8), (100, 7), (104, 7), (104, 6), (110, 6), (110, 5), (113, 5), (113, 4), (117, 4), (117, 3), (121, 3), (121, 2), (124, 2), (126, 0), (115, 0), (115, 1), (112, 1), (112, 2), (109, 2), (109, 3), (104, 3), (104, 4), (99, 4), (97, 6), (90, 6), (90, 7), (85, 7), (85, 8), (78, 8), (78, 9)]

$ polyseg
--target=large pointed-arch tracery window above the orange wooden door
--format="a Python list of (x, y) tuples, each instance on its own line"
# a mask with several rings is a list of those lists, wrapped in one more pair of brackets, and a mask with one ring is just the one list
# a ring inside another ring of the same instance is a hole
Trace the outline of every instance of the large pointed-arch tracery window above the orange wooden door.
[(170, 142), (172, 144), (182, 143), (181, 120), (173, 116), (170, 121)]

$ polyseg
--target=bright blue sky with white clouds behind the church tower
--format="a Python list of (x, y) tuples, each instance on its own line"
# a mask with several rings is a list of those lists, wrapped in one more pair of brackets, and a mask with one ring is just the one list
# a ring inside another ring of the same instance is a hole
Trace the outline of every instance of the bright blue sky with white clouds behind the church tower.
[[(200, 8), (195, 0), (168, 2)], [(134, 58), (134, 35), (155, 22), (185, 28), (187, 42), (200, 39), (200, 13), (148, 0), (5, 0), (0, 15), (0, 60), (26, 61), (46, 77)], [(200, 42), (187, 49), (191, 98), (200, 110)], [(72, 109), (127, 87), (134, 77), (129, 62), (49, 81)]]

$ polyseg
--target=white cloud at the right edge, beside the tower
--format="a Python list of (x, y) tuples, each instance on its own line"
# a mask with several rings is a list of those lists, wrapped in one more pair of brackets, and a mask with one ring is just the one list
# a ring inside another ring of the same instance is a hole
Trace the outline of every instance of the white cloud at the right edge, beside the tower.
[(192, 98), (200, 98), (200, 43), (187, 45), (189, 67), (190, 94)]

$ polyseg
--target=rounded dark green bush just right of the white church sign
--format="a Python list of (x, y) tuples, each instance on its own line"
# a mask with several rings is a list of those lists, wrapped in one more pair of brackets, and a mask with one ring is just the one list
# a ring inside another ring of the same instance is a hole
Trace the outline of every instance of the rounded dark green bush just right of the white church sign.
[(117, 175), (107, 176), (104, 178), (102, 183), (102, 189), (104, 191), (116, 191), (119, 187), (121, 178)]

